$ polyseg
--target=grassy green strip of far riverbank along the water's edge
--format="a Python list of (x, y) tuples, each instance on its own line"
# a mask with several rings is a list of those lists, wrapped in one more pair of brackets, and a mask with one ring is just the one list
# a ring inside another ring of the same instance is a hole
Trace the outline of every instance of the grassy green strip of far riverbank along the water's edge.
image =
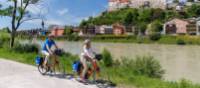
[[(155, 37), (155, 38), (154, 38)], [(45, 36), (38, 36), (37, 39), (44, 40)], [(80, 37), (77, 35), (56, 37), (56, 40), (84, 41), (90, 38), (93, 42), (107, 43), (136, 43), (136, 44), (173, 44), (173, 45), (200, 45), (200, 36), (189, 35), (159, 35), (153, 36), (134, 36), (134, 35), (95, 35), (90, 37)], [(33, 39), (31, 36), (18, 36), (18, 39)]]

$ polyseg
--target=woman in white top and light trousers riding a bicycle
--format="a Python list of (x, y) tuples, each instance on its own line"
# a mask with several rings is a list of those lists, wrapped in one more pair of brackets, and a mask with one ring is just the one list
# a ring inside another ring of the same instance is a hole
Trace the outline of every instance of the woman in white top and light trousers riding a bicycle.
[(81, 82), (86, 82), (85, 80), (85, 75), (88, 70), (88, 65), (87, 62), (89, 61), (90, 63), (95, 63), (95, 52), (92, 50), (91, 47), (91, 41), (89, 39), (84, 41), (84, 46), (83, 46), (83, 53), (81, 53), (81, 58), (80, 61), (83, 65), (83, 71), (81, 73)]

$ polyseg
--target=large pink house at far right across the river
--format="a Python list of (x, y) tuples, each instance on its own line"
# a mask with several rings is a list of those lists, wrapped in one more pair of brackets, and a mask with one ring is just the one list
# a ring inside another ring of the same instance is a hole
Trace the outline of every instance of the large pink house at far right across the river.
[(171, 35), (198, 35), (199, 30), (195, 20), (191, 19), (172, 19), (163, 26), (163, 34)]

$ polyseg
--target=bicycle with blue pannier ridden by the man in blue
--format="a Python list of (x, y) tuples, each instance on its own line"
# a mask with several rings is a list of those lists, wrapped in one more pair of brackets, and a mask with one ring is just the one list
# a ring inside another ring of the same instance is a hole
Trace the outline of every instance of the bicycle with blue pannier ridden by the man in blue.
[(54, 55), (55, 56), (54, 56), (53, 61), (52, 61), (53, 63), (51, 62), (52, 59), (49, 59), (47, 61), (47, 66), (46, 67), (43, 66), (45, 57), (44, 56), (37, 56), (35, 61), (36, 61), (36, 65), (37, 65), (38, 71), (42, 75), (46, 75), (48, 72), (55, 73), (55, 67), (56, 67), (56, 65), (59, 65), (58, 58), (55, 58), (55, 57), (61, 56), (61, 53), (62, 53), (62, 50), (60, 50), (60, 49), (54, 50)]

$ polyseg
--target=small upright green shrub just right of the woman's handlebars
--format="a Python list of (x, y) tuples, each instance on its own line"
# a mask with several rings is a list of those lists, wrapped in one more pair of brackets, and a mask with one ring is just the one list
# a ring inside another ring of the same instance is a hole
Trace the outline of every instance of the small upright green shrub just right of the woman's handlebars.
[(107, 49), (104, 49), (102, 52), (103, 63), (106, 67), (110, 67), (113, 65), (113, 59), (110, 52)]

